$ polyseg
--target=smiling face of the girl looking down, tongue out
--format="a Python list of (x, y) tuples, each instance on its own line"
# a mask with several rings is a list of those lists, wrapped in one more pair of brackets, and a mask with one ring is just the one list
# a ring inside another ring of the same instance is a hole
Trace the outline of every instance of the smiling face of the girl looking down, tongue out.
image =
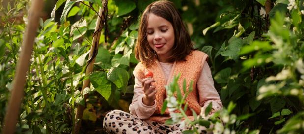
[(172, 55), (174, 37), (174, 29), (169, 21), (152, 13), (148, 15), (147, 40), (160, 62), (167, 62)]

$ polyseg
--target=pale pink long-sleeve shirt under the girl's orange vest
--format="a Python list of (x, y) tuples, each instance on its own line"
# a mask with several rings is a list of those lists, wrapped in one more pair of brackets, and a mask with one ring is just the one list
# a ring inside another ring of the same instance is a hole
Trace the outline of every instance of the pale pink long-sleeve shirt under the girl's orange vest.
[[(205, 61), (202, 62), (204, 65), (202, 66), (202, 71), (196, 84), (199, 93), (199, 104), (204, 111), (209, 103), (212, 103), (212, 111), (215, 112), (222, 109), (222, 103), (217, 90), (214, 88), (214, 82), (209, 65), (207, 62), (204, 62)], [(167, 81), (173, 63), (159, 63), (162, 66)], [(147, 106), (142, 102), (143, 96), (144, 92), (142, 89), (142, 83), (138, 78), (135, 78), (134, 96), (129, 110), (131, 114), (136, 115), (141, 119), (147, 119), (154, 113), (156, 109), (156, 102), (153, 106)]]

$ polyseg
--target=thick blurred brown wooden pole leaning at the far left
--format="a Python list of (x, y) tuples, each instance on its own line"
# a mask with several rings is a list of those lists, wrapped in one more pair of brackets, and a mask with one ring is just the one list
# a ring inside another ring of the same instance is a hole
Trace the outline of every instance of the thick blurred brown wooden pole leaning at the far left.
[(11, 98), (9, 99), (7, 113), (4, 120), (5, 125), (3, 134), (14, 134), (15, 132), (20, 104), (24, 96), (23, 90), (26, 82), (26, 73), (29, 69), (33, 43), (39, 26), (39, 17), (43, 5), (43, 0), (33, 0), (32, 7), (29, 10), (28, 26), (24, 34), (25, 38), (22, 43), (22, 51), (16, 67), (16, 77), (13, 81)]

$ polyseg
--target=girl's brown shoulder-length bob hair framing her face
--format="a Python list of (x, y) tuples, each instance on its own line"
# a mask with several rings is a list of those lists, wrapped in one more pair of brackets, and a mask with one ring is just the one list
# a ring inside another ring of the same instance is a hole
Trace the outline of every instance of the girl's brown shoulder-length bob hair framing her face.
[(146, 67), (153, 64), (158, 59), (157, 53), (149, 46), (147, 40), (147, 23), (149, 14), (153, 13), (171, 23), (174, 29), (173, 54), (169, 57), (169, 62), (184, 61), (186, 56), (194, 50), (182, 18), (174, 4), (170, 1), (155, 1), (144, 10), (138, 30), (138, 40), (135, 45), (135, 57)]

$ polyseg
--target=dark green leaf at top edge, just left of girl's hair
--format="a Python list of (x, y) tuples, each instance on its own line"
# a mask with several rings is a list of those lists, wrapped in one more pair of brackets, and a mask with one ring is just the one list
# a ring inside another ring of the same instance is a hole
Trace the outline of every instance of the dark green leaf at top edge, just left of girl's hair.
[(130, 13), (136, 8), (134, 1), (131, 0), (116, 0), (115, 3), (118, 7), (118, 16)]

